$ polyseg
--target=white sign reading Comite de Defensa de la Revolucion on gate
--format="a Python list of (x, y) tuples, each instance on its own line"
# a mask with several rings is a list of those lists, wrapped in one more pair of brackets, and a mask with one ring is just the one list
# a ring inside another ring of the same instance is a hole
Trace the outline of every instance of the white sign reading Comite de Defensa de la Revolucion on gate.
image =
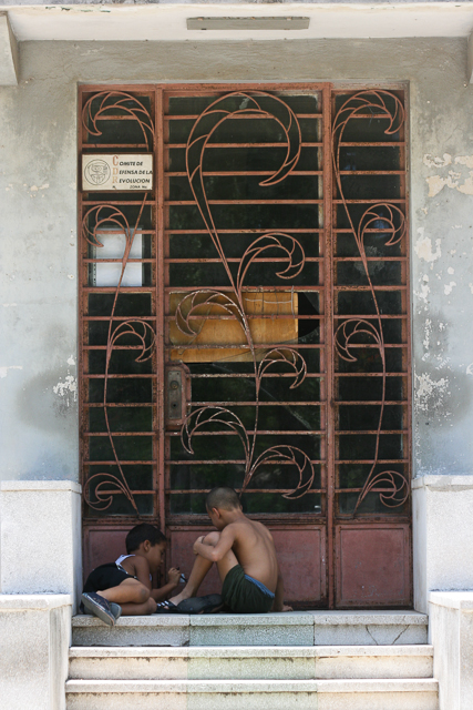
[(82, 155), (82, 190), (152, 190), (153, 154), (94, 154)]

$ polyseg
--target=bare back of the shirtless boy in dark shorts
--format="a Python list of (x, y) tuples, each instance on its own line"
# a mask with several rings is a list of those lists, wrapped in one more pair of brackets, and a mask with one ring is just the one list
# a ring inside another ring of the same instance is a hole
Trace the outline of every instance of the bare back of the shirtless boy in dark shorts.
[(235, 536), (232, 549), (245, 575), (263, 582), (274, 592), (278, 581), (278, 561), (269, 530), (261, 523), (245, 516), (230, 523), (227, 529)]

